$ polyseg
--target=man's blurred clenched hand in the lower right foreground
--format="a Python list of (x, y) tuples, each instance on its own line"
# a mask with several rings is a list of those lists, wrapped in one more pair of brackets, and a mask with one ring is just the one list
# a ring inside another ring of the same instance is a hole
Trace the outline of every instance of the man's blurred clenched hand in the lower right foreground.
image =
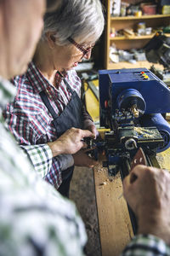
[(135, 166), (123, 181), (123, 195), (137, 217), (138, 233), (158, 236), (170, 244), (170, 174)]

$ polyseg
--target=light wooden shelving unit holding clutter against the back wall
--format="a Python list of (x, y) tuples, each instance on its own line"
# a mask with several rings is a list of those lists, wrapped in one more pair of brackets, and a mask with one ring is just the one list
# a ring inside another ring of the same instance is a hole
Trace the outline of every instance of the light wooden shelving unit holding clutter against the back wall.
[[(131, 0), (126, 0), (127, 3), (131, 3)], [(139, 22), (144, 22), (145, 27), (152, 27), (153, 31), (156, 31), (159, 27), (169, 26), (170, 24), (170, 15), (142, 15), (137, 16), (119, 16), (112, 17), (111, 10), (111, 0), (105, 0), (105, 9), (107, 10), (106, 22), (107, 26), (105, 29), (105, 68), (133, 68), (133, 67), (142, 67), (142, 63), (131, 64), (125, 62), (124, 64), (111, 64), (110, 61), (110, 47), (111, 44), (115, 44), (116, 49), (128, 50), (128, 49), (143, 49), (146, 44), (153, 38), (154, 33), (151, 35), (137, 36), (137, 34), (131, 36), (121, 36), (111, 38), (112, 31), (119, 31), (122, 29), (132, 30), (137, 32)], [(137, 0), (133, 0), (133, 3), (138, 3)], [(170, 34), (166, 34), (167, 37), (170, 37)], [(148, 62), (149, 63), (149, 62)], [(151, 64), (147, 64), (147, 67), (150, 68)], [(155, 65), (156, 66), (156, 65)], [(143, 66), (145, 67), (145, 66)]]

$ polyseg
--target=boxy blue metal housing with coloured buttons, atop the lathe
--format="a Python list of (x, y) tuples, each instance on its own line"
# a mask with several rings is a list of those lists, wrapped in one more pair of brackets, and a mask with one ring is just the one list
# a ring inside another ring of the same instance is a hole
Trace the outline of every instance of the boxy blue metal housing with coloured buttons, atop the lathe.
[[(144, 72), (148, 79), (141, 73)], [(135, 89), (146, 104), (144, 113), (170, 112), (170, 90), (161, 79), (146, 68), (99, 71), (100, 125), (105, 126), (105, 101), (110, 101), (112, 111), (117, 108), (117, 96), (126, 89)]]

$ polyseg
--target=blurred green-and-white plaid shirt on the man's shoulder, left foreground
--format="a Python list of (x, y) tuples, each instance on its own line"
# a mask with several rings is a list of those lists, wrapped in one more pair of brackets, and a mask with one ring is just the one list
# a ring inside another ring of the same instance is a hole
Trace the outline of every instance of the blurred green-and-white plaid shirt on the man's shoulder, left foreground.
[(2, 108), (14, 93), (0, 79), (0, 255), (83, 255), (87, 236), (75, 205), (37, 176), (4, 126)]

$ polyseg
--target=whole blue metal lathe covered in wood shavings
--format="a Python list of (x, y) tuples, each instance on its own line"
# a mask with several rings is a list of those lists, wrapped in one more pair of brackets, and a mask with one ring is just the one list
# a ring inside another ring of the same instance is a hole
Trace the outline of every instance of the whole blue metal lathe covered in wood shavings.
[[(99, 144), (105, 150), (109, 175), (120, 172), (122, 179), (126, 177), (139, 148), (145, 163), (158, 167), (156, 153), (170, 147), (170, 126), (162, 116), (170, 112), (167, 85), (146, 68), (101, 70), (99, 105), (100, 126), (110, 128)], [(130, 208), (129, 214), (135, 234), (137, 224)]]

